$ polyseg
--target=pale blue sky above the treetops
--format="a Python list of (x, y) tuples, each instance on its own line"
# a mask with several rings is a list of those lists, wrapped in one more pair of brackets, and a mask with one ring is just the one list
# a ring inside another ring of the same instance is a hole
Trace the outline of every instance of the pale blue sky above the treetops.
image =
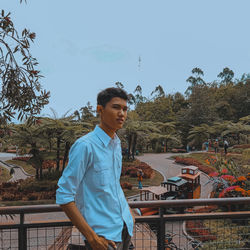
[(51, 92), (42, 114), (95, 107), (115, 82), (149, 97), (158, 85), (184, 93), (194, 67), (207, 82), (225, 67), (250, 73), (249, 0), (0, 0), (0, 9), (36, 33), (31, 52)]

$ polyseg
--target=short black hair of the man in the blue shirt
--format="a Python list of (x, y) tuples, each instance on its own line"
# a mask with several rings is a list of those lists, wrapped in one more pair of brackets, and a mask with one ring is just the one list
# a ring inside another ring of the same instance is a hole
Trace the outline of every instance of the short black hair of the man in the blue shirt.
[(114, 97), (128, 100), (128, 94), (125, 90), (121, 88), (107, 88), (97, 95), (97, 105), (102, 105), (105, 108), (106, 104)]

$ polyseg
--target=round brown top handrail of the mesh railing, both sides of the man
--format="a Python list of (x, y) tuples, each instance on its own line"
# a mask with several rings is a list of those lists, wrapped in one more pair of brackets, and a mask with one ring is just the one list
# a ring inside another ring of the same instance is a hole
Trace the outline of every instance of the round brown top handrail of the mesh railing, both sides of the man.
[[(130, 201), (131, 208), (142, 207), (192, 207), (203, 205), (250, 205), (250, 197), (239, 198), (212, 198), (212, 199), (183, 199), (183, 200), (160, 200), (160, 201)], [(57, 204), (50, 205), (25, 205), (25, 206), (8, 206), (0, 207), (1, 214), (29, 214), (29, 213), (48, 213), (61, 212), (62, 209)]]

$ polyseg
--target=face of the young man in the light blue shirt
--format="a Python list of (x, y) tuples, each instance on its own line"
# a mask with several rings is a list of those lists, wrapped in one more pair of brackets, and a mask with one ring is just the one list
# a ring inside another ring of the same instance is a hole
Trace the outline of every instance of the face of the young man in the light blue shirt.
[(113, 97), (105, 107), (97, 106), (101, 124), (113, 131), (122, 128), (127, 118), (127, 109), (127, 101), (120, 97)]

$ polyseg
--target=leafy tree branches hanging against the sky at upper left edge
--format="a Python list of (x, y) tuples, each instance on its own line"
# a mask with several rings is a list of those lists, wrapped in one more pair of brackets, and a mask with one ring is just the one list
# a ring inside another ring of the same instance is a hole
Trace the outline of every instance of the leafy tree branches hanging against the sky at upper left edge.
[[(22, 2), (22, 1), (21, 1)], [(48, 103), (49, 92), (40, 84), (38, 62), (31, 55), (30, 43), (36, 34), (15, 29), (10, 13), (0, 16), (0, 120), (18, 119), (39, 114)]]

